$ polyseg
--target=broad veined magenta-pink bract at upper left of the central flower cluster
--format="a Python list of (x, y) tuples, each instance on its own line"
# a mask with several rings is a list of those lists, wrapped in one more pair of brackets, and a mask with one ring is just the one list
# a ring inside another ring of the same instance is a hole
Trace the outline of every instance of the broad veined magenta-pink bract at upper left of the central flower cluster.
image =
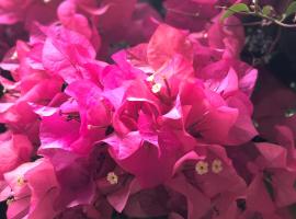
[(93, 59), (95, 51), (81, 34), (65, 27), (50, 27), (43, 48), (43, 65), (52, 74), (58, 74), (68, 83), (83, 78), (81, 67)]

